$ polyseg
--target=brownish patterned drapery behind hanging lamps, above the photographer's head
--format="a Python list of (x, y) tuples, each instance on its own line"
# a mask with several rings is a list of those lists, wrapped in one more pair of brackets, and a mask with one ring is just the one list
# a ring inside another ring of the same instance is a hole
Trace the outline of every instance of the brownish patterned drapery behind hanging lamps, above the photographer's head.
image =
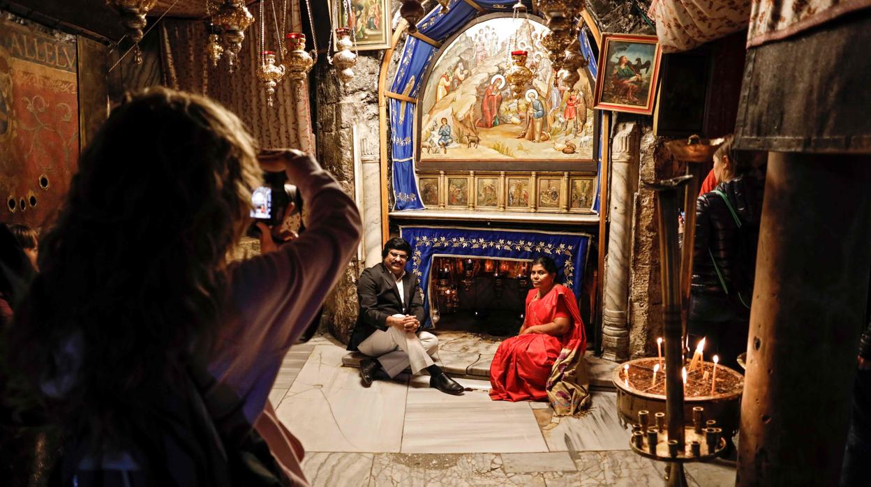
[[(257, 17), (260, 4), (248, 9)], [(299, 32), (302, 29), (299, 6), (292, 10), (294, 15), (287, 19), (288, 29)], [(275, 33), (268, 26), (267, 36), (267, 49), (277, 50), (280, 46), (274, 45)], [(268, 106), (266, 91), (255, 75), (260, 59), (257, 47), (259, 25), (255, 23), (248, 28), (245, 37), (236, 72), (230, 74), (226, 59), (214, 67), (206, 57), (206, 24), (165, 19), (160, 24), (164, 84), (218, 100), (242, 119), (262, 147), (294, 147), (314, 152), (308, 83), (300, 88), (299, 100), (294, 97), (289, 84), (281, 83), (275, 90), (274, 106)], [(283, 40), (284, 36), (280, 37)]]

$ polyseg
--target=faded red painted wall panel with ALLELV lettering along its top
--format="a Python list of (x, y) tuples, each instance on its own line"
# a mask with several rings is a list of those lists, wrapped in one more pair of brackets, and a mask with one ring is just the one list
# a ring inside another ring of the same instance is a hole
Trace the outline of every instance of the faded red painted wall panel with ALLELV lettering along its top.
[(0, 18), (0, 221), (41, 227), (78, 161), (75, 37)]

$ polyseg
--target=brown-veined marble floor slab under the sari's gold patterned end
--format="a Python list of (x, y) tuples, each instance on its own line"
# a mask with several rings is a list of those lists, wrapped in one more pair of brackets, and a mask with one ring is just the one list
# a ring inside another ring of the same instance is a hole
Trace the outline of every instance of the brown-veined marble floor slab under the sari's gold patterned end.
[[(630, 450), (629, 432), (618, 420), (617, 393), (592, 391), (589, 413), (551, 418), (550, 404), (534, 409), (550, 451)], [(557, 422), (556, 426), (551, 423)]]

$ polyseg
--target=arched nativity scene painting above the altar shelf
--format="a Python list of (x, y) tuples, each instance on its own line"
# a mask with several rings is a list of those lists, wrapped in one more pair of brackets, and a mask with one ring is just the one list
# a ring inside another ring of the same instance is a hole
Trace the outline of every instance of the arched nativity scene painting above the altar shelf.
[[(420, 102), (422, 161), (593, 159), (589, 78), (583, 73), (576, 85), (564, 85), (541, 43), (549, 30), (531, 20), (520, 25), (493, 18), (442, 51)], [(513, 49), (529, 52), (527, 67), (535, 74), (519, 99), (505, 80)]]

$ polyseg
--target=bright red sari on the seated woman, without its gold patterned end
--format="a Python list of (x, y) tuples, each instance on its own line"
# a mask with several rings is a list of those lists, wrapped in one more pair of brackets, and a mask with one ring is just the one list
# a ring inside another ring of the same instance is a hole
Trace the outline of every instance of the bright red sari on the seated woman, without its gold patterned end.
[(562, 336), (530, 333), (505, 340), (496, 349), (490, 364), (490, 398), (503, 401), (543, 401), (547, 399), (548, 377), (553, 362), (563, 348), (587, 347), (584, 322), (577, 310), (575, 295), (568, 287), (554, 284), (548, 294), (535, 299), (537, 289), (526, 295), (526, 322), (522, 329), (552, 323), (568, 317), (571, 328)]

